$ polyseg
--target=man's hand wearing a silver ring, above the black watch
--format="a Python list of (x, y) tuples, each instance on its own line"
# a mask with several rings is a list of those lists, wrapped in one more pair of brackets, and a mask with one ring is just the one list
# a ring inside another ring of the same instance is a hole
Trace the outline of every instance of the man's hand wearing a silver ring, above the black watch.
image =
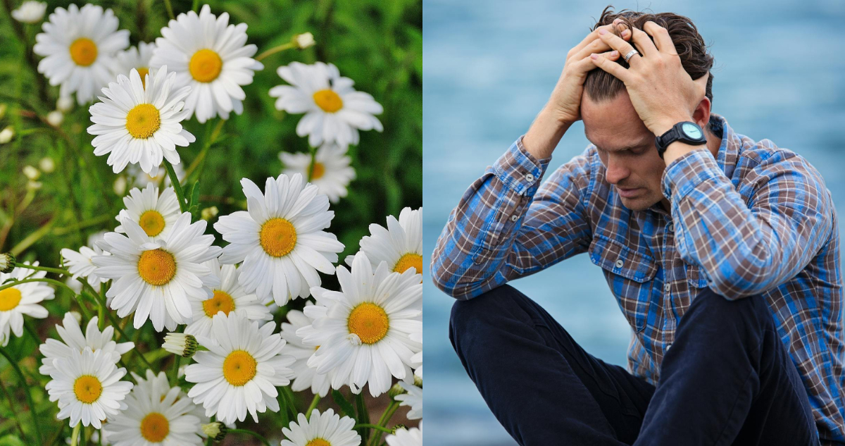
[[(668, 30), (651, 21), (643, 28), (645, 31), (635, 28), (626, 33), (633, 32), (633, 42), (639, 52), (628, 60), (630, 68), (623, 68), (596, 52), (590, 58), (598, 68), (624, 82), (631, 104), (646, 128), (655, 135), (662, 135), (678, 122), (693, 121), (695, 106), (704, 98), (709, 73), (701, 79), (690, 78), (681, 66)], [(649, 35), (654, 37), (653, 42)], [(610, 32), (599, 33), (599, 38), (623, 56), (634, 49), (629, 42)]]

